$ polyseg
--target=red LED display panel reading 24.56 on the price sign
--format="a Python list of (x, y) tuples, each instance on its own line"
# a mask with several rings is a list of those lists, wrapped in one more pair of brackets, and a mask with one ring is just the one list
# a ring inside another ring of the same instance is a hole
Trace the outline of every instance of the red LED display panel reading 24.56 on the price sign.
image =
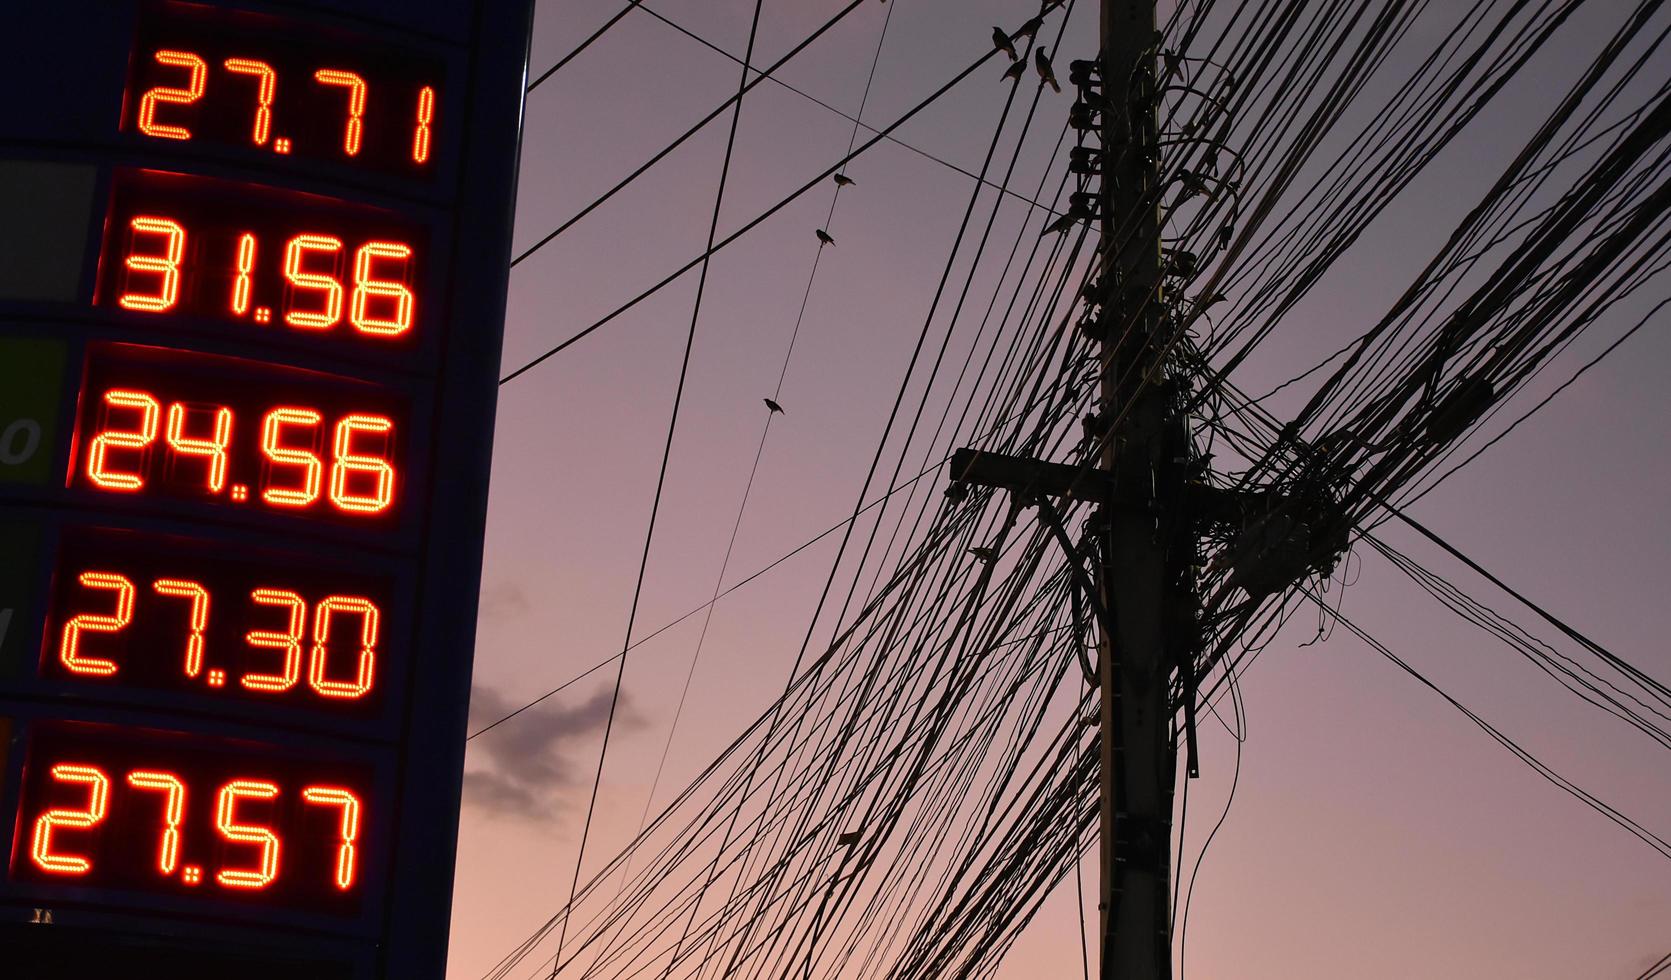
[(399, 510), (406, 421), (374, 385), (162, 348), (94, 345), (72, 487), (351, 523)]

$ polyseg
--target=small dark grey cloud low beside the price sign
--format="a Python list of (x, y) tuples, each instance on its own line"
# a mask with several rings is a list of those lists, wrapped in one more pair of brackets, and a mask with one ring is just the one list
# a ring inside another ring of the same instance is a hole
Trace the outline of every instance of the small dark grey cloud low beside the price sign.
[[(590, 753), (597, 751), (597, 736), (608, 722), (610, 694), (603, 689), (571, 706), (546, 701), (471, 741), (465, 803), (498, 814), (553, 816), (566, 804), (565, 791), (580, 786), (582, 776), (597, 764)], [(476, 686), (470, 692), (470, 729), (491, 724), (516, 707), (520, 704), (505, 694)], [(615, 727), (643, 727), (625, 691), (615, 709)], [(576, 746), (585, 748), (587, 759), (576, 761)]]

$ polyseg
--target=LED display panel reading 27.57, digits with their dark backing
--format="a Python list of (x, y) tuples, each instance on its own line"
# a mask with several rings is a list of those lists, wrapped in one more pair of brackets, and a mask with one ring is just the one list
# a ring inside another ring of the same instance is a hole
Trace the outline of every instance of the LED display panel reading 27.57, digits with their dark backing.
[(267, 746), (95, 724), (28, 736), (12, 878), (353, 915), (369, 773)]

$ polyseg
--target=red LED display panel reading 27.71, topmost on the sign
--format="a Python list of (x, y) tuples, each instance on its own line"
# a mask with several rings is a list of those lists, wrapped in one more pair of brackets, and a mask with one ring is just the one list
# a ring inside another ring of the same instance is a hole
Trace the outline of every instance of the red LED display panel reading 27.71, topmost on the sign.
[(423, 57), (277, 17), (157, 3), (134, 42), (122, 129), (428, 176), (439, 94), (441, 65)]

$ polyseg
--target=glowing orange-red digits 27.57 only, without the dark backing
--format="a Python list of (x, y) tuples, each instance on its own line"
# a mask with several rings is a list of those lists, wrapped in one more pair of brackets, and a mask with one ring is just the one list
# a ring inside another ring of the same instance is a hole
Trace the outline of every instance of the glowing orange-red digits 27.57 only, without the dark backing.
[[(179, 774), (165, 769), (132, 769), (124, 779), (115, 781), (109, 771), (90, 763), (58, 763), (52, 766), (50, 776), (67, 791), (84, 788), (85, 796), (75, 806), (55, 806), (35, 818), (28, 850), (35, 868), (75, 878), (92, 873), (94, 858), (79, 853), (85, 851), (85, 845), (77, 848), (75, 836), (97, 831), (110, 814), (115, 789), (120, 789), (125, 806), (155, 808), (159, 816), (152, 860), (155, 875), (179, 878), (185, 885), (201, 881), (202, 868), (180, 861), (180, 853), (190, 841), (182, 829), (189, 788)], [(241, 851), (222, 858), (224, 865), (214, 875), (222, 888), (259, 891), (279, 880), (284, 836), (272, 826), (256, 823), (249, 811), (257, 808), (271, 811), (281, 796), (277, 783), (257, 778), (229, 779), (216, 791), (214, 831), (221, 845), (214, 850), (234, 845)], [(301, 799), (306, 808), (324, 809), (328, 814), (336, 811), (336, 861), (329, 878), (338, 891), (351, 890), (358, 871), (359, 794), (343, 786), (312, 784), (301, 791)], [(120, 846), (137, 843), (125, 836), (119, 841)]]

